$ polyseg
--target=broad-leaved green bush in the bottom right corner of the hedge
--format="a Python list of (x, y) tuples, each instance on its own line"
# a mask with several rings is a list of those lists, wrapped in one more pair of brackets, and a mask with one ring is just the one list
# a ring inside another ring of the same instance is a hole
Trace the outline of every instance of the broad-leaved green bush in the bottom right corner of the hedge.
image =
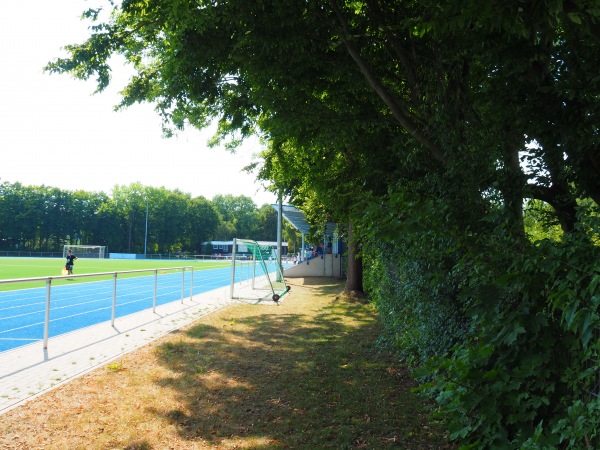
[(600, 442), (598, 250), (543, 241), (491, 284), (462, 297), (471, 326), (429, 361), (453, 439), (478, 448), (573, 448)]

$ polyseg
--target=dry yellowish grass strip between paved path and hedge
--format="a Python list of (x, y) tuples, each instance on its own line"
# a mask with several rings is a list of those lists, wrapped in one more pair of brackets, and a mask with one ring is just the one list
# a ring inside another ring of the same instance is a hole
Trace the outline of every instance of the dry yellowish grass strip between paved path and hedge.
[(372, 307), (289, 280), (0, 416), (3, 449), (452, 448)]

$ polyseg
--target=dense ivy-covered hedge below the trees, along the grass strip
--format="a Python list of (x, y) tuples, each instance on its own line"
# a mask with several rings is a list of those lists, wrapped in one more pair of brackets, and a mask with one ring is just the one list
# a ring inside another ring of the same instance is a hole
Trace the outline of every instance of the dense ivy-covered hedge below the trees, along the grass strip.
[(386, 342), (462, 448), (600, 448), (600, 252), (589, 233), (518, 252), (470, 238), (462, 248), (479, 254), (468, 257), (447, 236), (367, 245)]

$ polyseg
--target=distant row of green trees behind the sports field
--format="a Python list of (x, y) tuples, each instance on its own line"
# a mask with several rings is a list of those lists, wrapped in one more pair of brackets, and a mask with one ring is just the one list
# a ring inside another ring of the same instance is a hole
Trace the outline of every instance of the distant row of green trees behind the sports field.
[[(146, 205), (148, 234), (146, 241)], [(296, 245), (289, 227), (285, 237)], [(133, 183), (112, 192), (0, 184), (0, 250), (62, 251), (64, 244), (106, 245), (116, 253), (210, 253), (203, 243), (276, 241), (277, 210), (244, 195), (212, 200)], [(299, 247), (299, 246), (298, 246)], [(292, 247), (290, 247), (292, 248)]]

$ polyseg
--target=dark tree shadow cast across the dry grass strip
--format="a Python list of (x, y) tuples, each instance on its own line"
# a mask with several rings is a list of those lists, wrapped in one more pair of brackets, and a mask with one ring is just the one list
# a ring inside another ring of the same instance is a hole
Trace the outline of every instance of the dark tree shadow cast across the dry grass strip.
[(220, 448), (444, 448), (407, 373), (374, 348), (371, 308), (337, 280), (296, 288), (302, 310), (245, 308), (163, 344), (173, 376), (157, 382), (182, 406), (151, 412)]

